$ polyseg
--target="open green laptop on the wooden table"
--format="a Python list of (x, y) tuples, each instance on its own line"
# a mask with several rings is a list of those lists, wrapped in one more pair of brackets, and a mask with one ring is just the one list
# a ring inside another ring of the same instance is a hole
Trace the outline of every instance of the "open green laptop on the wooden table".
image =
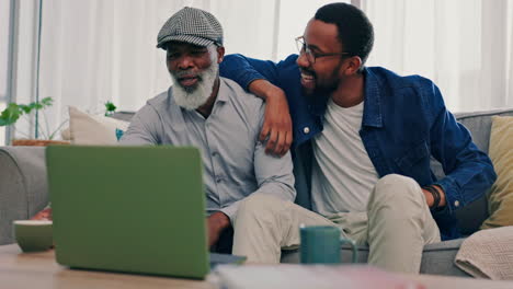
[(208, 254), (198, 149), (56, 146), (46, 162), (57, 263), (203, 279), (243, 262)]

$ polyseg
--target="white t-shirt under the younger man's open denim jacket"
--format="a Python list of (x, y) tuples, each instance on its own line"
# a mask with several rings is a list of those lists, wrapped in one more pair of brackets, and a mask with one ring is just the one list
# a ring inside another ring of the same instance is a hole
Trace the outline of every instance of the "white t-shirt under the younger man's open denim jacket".
[(360, 137), (364, 103), (344, 108), (331, 99), (324, 129), (312, 141), (312, 209), (323, 216), (366, 211), (368, 197), (378, 181)]

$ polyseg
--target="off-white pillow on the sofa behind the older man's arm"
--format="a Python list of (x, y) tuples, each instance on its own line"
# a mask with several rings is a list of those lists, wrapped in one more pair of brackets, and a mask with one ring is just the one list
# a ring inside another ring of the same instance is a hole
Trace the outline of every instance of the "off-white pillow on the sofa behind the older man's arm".
[(116, 129), (125, 131), (128, 125), (128, 122), (90, 115), (69, 106), (69, 138), (72, 144), (117, 144)]

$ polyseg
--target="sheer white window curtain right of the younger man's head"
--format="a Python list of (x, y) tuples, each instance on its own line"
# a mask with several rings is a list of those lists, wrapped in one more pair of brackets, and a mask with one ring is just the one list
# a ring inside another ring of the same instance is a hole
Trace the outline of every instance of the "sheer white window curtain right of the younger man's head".
[(513, 1), (363, 1), (368, 66), (433, 80), (452, 112), (511, 107)]

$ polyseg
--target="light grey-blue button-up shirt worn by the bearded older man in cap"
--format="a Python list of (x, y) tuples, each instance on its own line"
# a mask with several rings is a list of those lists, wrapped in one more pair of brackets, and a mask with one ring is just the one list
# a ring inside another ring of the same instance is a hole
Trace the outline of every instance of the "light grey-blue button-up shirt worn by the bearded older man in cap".
[(134, 116), (121, 144), (194, 146), (202, 151), (207, 213), (223, 211), (233, 222), (239, 201), (271, 194), (294, 201), (293, 164), (265, 153), (259, 141), (265, 104), (231, 80), (220, 78), (212, 114), (180, 107), (169, 89)]

